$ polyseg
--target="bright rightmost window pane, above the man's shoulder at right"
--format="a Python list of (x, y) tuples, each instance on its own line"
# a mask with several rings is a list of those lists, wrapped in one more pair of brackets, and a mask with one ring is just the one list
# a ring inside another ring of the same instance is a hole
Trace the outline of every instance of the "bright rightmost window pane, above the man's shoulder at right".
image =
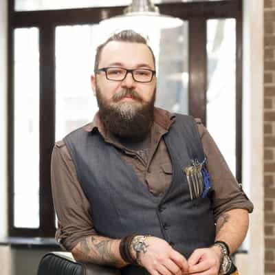
[(206, 124), (236, 175), (236, 20), (208, 20), (206, 48)]

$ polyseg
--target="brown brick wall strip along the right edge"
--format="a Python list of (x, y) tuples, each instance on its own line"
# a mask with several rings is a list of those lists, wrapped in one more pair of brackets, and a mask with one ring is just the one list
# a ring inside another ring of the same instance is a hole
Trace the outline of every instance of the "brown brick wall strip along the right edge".
[(275, 0), (264, 0), (265, 274), (275, 274)]

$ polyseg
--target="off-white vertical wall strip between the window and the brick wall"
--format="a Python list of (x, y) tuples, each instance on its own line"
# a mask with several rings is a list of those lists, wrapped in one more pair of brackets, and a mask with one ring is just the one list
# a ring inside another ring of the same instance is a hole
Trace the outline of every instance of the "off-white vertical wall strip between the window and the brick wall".
[(254, 203), (248, 255), (237, 259), (240, 274), (264, 272), (263, 197), (263, 1), (243, 2), (243, 184)]

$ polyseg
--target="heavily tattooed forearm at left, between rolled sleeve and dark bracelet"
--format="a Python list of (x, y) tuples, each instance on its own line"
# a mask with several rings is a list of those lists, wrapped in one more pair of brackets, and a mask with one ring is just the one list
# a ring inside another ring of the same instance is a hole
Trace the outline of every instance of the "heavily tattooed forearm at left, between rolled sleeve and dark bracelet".
[(120, 257), (119, 242), (102, 236), (88, 236), (76, 245), (72, 254), (80, 262), (122, 267), (125, 263)]

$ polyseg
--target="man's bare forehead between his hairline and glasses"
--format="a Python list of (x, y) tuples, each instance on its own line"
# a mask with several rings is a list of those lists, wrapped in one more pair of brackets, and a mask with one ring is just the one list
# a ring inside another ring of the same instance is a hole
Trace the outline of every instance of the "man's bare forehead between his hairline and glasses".
[(154, 67), (152, 53), (146, 44), (124, 41), (111, 41), (102, 49), (100, 67), (115, 63), (148, 64)]

